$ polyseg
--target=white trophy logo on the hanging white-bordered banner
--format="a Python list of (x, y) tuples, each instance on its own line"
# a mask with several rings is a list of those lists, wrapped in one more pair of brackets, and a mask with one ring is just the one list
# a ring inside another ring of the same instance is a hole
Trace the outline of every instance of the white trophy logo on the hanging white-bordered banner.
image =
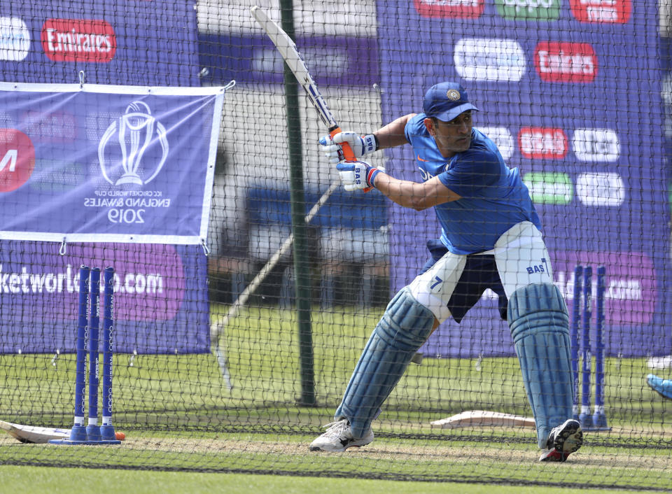
[[(117, 142), (113, 143), (115, 134)], [(100, 169), (112, 185), (151, 182), (167, 157), (166, 128), (143, 101), (133, 101), (127, 106), (125, 113), (107, 127), (98, 144)]]

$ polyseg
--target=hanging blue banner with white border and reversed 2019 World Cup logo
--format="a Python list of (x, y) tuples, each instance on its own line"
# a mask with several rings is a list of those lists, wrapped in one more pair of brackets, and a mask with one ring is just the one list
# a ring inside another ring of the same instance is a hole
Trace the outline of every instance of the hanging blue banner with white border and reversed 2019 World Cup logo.
[(0, 239), (204, 244), (223, 95), (0, 83)]

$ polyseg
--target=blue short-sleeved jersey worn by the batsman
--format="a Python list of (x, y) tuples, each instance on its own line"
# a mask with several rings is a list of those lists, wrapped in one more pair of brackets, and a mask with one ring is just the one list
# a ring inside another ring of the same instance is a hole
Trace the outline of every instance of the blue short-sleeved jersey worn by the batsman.
[(541, 222), (517, 168), (509, 168), (495, 143), (472, 129), (468, 150), (446, 158), (425, 128), (424, 113), (405, 128), (423, 181), (438, 176), (461, 199), (435, 206), (442, 228), (441, 241), (454, 254), (475, 254), (494, 248), (513, 225)]

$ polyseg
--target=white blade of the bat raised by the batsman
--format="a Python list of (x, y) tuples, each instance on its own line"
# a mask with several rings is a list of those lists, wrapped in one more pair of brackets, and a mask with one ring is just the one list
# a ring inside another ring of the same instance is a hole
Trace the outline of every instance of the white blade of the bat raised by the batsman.
[(322, 94), (320, 94), (315, 81), (311, 77), (305, 62), (303, 61), (303, 57), (301, 57), (301, 54), (296, 49), (296, 45), (294, 41), (292, 41), (292, 38), (290, 38), (288, 34), (283, 31), (283, 29), (278, 24), (272, 21), (268, 15), (266, 15), (264, 10), (258, 6), (253, 6), (250, 9), (250, 12), (258, 24), (262, 27), (262, 29), (266, 31), (266, 34), (278, 49), (285, 62), (287, 62), (287, 65), (294, 74), (294, 77), (300, 83), (300, 85), (302, 85), (308, 96), (308, 99), (317, 110), (317, 113), (320, 115), (320, 118), (323, 120), (324, 124), (329, 129), (332, 129), (332, 127), (338, 127), (338, 123), (336, 122), (334, 115), (332, 115), (329, 107), (322, 97)]

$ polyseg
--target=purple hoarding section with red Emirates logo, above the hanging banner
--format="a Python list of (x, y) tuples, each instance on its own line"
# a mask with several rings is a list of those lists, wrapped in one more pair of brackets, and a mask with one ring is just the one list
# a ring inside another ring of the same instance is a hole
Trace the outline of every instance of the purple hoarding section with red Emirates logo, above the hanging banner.
[(0, 77), (20, 83), (198, 86), (195, 1), (3, 2)]

